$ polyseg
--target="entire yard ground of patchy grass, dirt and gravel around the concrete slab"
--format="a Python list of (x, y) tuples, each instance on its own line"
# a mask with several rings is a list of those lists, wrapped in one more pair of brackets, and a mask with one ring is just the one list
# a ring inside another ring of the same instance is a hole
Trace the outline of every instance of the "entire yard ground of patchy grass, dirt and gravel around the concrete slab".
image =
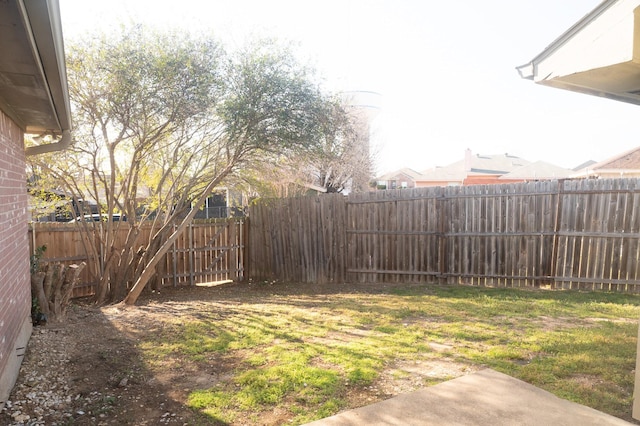
[(633, 421), (639, 317), (610, 293), (169, 288), (35, 327), (0, 423), (302, 424), (484, 367)]

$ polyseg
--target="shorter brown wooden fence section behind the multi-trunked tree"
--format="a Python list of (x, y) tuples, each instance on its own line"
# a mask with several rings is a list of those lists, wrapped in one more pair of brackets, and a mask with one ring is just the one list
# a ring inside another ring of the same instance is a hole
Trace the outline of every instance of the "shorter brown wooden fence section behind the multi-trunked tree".
[[(130, 224), (120, 222), (114, 249), (126, 239)], [(246, 223), (242, 219), (211, 220), (191, 224), (165, 255), (161, 266), (162, 285), (196, 284), (244, 277)], [(153, 228), (140, 226), (140, 241), (148, 240)], [(76, 224), (33, 223), (29, 228), (32, 247), (47, 247), (42, 260), (64, 264), (87, 262), (73, 296), (94, 294), (98, 271), (87, 253), (87, 234)]]

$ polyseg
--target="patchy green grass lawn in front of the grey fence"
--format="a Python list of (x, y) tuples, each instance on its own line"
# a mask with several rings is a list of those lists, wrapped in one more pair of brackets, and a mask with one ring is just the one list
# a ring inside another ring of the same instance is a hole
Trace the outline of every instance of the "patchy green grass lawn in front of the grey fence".
[[(301, 424), (407, 390), (396, 385), (403, 380), (417, 389), (483, 367), (631, 420), (638, 296), (245, 286), (167, 318), (139, 342), (152, 371), (216, 371), (188, 391), (203, 423), (277, 415)], [(455, 368), (430, 370), (447, 365)]]

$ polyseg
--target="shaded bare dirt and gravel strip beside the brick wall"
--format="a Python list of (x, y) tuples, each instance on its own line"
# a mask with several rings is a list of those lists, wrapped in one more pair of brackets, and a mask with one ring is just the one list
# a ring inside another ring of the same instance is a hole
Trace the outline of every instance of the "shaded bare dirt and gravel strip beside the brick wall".
[[(186, 392), (158, 382), (135, 334), (137, 308), (73, 305), (64, 322), (35, 326), (0, 425), (186, 425)], [(162, 373), (162, 372), (161, 372)], [(197, 421), (196, 421), (197, 422)]]

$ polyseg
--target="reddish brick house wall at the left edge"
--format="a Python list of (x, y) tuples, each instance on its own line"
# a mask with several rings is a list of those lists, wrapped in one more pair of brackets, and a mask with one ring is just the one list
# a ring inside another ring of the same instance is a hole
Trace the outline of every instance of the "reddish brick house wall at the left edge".
[(31, 335), (26, 162), (22, 130), (0, 111), (0, 407)]

